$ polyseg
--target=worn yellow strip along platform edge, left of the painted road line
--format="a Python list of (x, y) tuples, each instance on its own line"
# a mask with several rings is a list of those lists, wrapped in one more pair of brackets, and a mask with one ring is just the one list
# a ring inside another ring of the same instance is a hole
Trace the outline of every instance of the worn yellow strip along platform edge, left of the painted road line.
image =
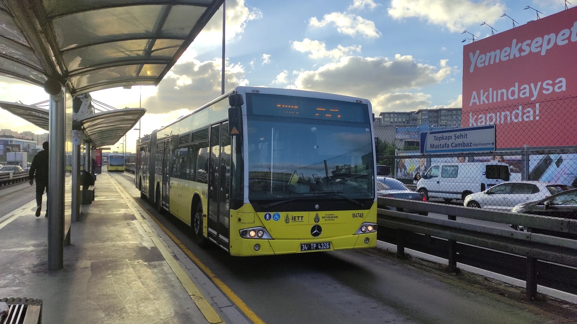
[(130, 208), (130, 211), (134, 214), (134, 216), (136, 216), (136, 219), (142, 225), (144, 231), (147, 232), (152, 242), (158, 248), (160, 253), (162, 253), (164, 259), (168, 263), (168, 266), (170, 266), (170, 269), (172, 269), (174, 274), (177, 275), (178, 280), (180, 280), (183, 287), (186, 289), (186, 292), (188, 292), (190, 298), (192, 298), (193, 302), (196, 304), (200, 312), (203, 313), (204, 318), (206, 318), (209, 323), (224, 323), (222, 319), (219, 317), (219, 315), (216, 314), (214, 308), (212, 308), (212, 306), (205, 299), (200, 290), (198, 290), (196, 285), (194, 285), (194, 282), (190, 280), (186, 272), (181, 268), (178, 262), (170, 254), (168, 249), (162, 244), (162, 242), (160, 242), (158, 236), (156, 235), (156, 232), (149, 227), (148, 223), (143, 219), (143, 217), (140, 217), (140, 212), (132, 204), (132, 201), (130, 201), (129, 198), (130, 195), (111, 176), (108, 176), (108, 178), (110, 179), (110, 182), (116, 188), (118, 193), (121, 195), (121, 197), (124, 199), (126, 205), (128, 205), (128, 207)]

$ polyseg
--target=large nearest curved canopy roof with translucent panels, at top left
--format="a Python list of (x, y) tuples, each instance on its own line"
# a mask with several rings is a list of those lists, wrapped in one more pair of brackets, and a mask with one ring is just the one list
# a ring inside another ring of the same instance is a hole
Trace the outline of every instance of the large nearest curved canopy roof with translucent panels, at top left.
[(0, 0), (0, 74), (75, 96), (158, 85), (224, 0)]

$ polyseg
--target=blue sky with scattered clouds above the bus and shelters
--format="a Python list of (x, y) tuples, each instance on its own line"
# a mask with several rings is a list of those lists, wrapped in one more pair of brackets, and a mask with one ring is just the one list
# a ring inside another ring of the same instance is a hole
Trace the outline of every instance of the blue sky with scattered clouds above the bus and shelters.
[[(572, 1), (577, 3), (576, 1)], [(297, 88), (366, 97), (373, 110), (461, 107), (463, 30), (478, 37), (548, 16), (563, 0), (226, 0), (226, 89)], [(571, 6), (571, 5), (569, 5)], [(157, 87), (143, 86), (149, 133), (220, 95), (222, 11)], [(467, 41), (468, 42), (468, 41)], [(140, 87), (93, 92), (138, 107)], [(0, 100), (46, 100), (38, 86), (0, 77)], [(43, 130), (0, 109), (0, 128)], [(128, 134), (134, 151), (138, 131)], [(118, 145), (118, 144), (117, 144)], [(113, 148), (115, 149), (115, 148)]]

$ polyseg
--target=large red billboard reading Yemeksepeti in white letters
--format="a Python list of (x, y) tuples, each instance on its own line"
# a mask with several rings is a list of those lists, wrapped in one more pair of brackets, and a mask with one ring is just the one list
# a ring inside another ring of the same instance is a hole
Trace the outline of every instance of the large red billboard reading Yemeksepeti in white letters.
[(577, 7), (463, 47), (462, 126), (498, 148), (577, 145), (576, 112)]

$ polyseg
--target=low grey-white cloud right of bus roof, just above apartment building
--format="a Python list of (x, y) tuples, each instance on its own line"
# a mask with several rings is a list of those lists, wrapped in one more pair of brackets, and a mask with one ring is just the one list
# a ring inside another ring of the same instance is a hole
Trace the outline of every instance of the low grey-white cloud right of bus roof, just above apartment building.
[(373, 112), (378, 115), (383, 111), (412, 111), (427, 108), (431, 104), (430, 97), (425, 93), (384, 93), (374, 97), (370, 103), (373, 106)]

